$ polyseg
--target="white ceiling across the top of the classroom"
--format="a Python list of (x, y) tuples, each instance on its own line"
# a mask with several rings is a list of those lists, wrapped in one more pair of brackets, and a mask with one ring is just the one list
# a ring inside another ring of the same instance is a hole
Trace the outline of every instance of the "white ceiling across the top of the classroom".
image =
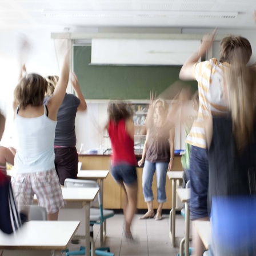
[(255, 28), (256, 0), (0, 0), (0, 28)]

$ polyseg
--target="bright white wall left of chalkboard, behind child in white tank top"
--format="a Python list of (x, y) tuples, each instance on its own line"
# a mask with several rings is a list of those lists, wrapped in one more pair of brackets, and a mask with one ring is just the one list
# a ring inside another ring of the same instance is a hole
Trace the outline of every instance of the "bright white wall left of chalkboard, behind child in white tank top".
[(31, 43), (26, 67), (28, 73), (43, 76), (58, 74), (54, 41), (50, 38), (50, 29), (0, 30), (0, 107), (7, 114), (6, 129), (2, 145), (9, 146), (13, 127), (13, 90), (18, 83), (19, 61), (18, 42), (24, 35)]

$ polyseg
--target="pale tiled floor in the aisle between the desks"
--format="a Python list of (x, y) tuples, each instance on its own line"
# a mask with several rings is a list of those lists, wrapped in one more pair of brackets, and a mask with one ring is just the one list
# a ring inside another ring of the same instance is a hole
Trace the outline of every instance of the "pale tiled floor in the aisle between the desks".
[[(123, 214), (115, 214), (113, 218), (107, 219), (107, 238), (105, 246), (110, 246), (111, 253), (115, 256), (177, 256), (179, 243), (184, 237), (185, 221), (180, 214), (176, 215), (176, 246), (171, 247), (169, 237), (169, 215), (163, 215), (161, 221), (155, 219), (139, 220), (135, 215), (132, 232), (138, 243), (128, 243), (123, 235)], [(99, 247), (99, 226), (94, 225), (94, 240)], [(79, 250), (85, 241), (81, 239), (79, 245), (71, 244), (69, 249)]]

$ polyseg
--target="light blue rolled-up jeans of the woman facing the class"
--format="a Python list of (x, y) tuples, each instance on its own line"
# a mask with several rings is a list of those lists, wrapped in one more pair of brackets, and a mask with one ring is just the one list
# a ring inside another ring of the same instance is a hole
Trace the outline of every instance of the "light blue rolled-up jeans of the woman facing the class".
[(145, 161), (142, 173), (142, 187), (145, 202), (153, 201), (152, 181), (155, 171), (157, 171), (157, 201), (159, 203), (166, 202), (165, 184), (166, 173), (168, 169), (167, 162), (152, 163)]

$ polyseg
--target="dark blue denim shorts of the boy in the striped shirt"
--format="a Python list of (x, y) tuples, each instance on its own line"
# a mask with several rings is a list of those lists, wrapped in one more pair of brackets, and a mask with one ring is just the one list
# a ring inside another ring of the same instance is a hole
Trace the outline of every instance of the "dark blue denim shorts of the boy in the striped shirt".
[(189, 171), (191, 189), (190, 219), (208, 217), (209, 161), (207, 149), (191, 146)]

